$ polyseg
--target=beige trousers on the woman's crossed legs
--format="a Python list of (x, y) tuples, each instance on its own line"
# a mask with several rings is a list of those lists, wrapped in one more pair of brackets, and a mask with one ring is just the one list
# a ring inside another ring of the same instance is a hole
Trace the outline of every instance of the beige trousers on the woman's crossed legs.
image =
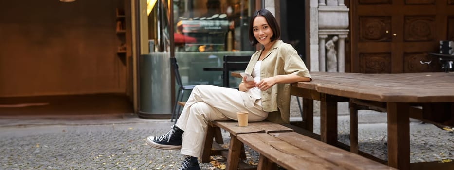
[(262, 121), (268, 112), (262, 111), (260, 99), (234, 88), (197, 85), (184, 105), (177, 127), (184, 131), (181, 153), (200, 157), (208, 123), (213, 120), (237, 120), (236, 112), (249, 111), (248, 121)]

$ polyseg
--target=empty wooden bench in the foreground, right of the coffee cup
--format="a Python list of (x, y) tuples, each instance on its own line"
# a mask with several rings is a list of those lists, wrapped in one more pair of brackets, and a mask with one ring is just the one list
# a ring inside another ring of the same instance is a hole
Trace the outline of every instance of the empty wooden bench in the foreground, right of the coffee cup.
[(296, 132), (238, 134), (260, 153), (257, 170), (396, 170)]

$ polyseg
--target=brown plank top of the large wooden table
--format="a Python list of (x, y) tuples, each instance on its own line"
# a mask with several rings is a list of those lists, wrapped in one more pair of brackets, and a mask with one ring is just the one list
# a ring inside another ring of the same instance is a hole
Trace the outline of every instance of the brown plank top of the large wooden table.
[(362, 74), (311, 72), (292, 86), (378, 102), (454, 102), (454, 73)]

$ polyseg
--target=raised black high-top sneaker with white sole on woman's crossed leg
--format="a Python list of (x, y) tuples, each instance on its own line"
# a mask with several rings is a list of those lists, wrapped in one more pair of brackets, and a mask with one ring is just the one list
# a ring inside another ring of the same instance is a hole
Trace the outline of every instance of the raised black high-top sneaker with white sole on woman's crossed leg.
[(176, 125), (173, 125), (172, 129), (167, 132), (167, 134), (161, 136), (148, 136), (146, 138), (146, 143), (157, 149), (180, 150), (182, 149), (183, 132), (184, 131)]

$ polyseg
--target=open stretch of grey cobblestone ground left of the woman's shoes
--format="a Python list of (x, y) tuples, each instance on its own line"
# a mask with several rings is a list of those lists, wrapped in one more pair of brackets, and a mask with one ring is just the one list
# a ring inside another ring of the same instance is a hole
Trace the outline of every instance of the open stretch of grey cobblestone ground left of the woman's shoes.
[[(154, 149), (145, 137), (161, 135), (171, 123), (2, 128), (1, 170), (174, 170), (179, 151)], [(8, 133), (13, 131), (13, 135)]]

